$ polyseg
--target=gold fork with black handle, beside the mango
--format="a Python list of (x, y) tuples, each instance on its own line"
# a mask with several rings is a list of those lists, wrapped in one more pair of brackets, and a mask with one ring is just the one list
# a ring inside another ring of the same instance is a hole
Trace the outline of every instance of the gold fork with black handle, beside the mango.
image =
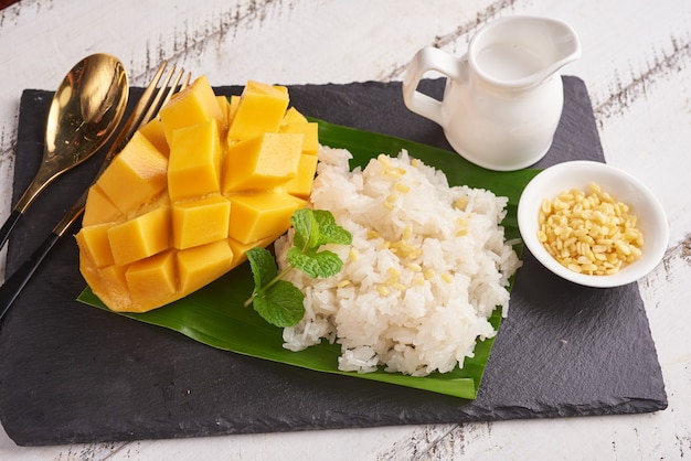
[[(178, 92), (184, 89), (190, 84), (191, 75), (188, 73), (184, 76), (184, 69), (180, 69), (176, 75), (176, 66), (173, 65), (171, 69), (166, 74), (163, 81), (161, 82), (161, 77), (166, 72), (166, 67), (168, 66), (167, 62), (163, 62), (156, 75), (151, 79), (149, 86), (147, 86), (137, 103), (137, 106), (132, 110), (131, 115), (125, 121), (123, 129), (120, 130), (118, 137), (113, 142), (110, 149), (106, 153), (106, 157), (94, 178), (94, 182), (98, 180), (100, 174), (105, 171), (105, 169), (110, 164), (110, 161), (117, 156), (123, 148), (127, 144), (132, 135), (147, 122), (149, 122), (153, 117), (158, 115), (158, 111), (161, 107), (163, 107), (170, 98)], [(174, 78), (173, 78), (173, 75)], [(161, 83), (160, 88), (157, 87)], [(169, 86), (170, 85), (170, 86)], [(6, 312), (12, 305), (12, 302), (17, 299), (19, 293), (22, 291), (26, 282), (31, 279), (36, 268), (43, 259), (47, 256), (49, 251), (53, 248), (53, 246), (57, 243), (60, 237), (62, 237), (65, 232), (74, 224), (75, 221), (82, 213), (84, 213), (84, 206), (86, 204), (86, 197), (88, 195), (88, 189), (84, 191), (82, 196), (77, 199), (72, 208), (65, 214), (65, 216), (61, 219), (60, 223), (53, 228), (49, 237), (43, 240), (41, 245), (36, 248), (36, 250), (29, 257), (26, 261), (24, 261), (19, 269), (17, 269), (0, 287), (0, 320), (4, 317)]]

